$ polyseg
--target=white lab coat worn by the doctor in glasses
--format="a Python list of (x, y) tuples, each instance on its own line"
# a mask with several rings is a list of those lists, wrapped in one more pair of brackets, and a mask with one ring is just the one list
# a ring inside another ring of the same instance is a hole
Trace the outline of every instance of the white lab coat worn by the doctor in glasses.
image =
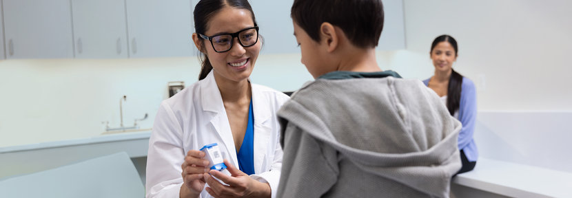
[[(250, 177), (268, 182), (272, 197), (276, 197), (282, 168), (276, 111), (289, 97), (268, 87), (251, 85), (255, 174)], [(205, 79), (161, 102), (149, 140), (147, 197), (178, 197), (183, 185), (181, 164), (186, 153), (212, 143), (218, 143), (225, 157), (238, 168), (221, 92), (211, 72)], [(203, 190), (201, 197), (210, 195)]]

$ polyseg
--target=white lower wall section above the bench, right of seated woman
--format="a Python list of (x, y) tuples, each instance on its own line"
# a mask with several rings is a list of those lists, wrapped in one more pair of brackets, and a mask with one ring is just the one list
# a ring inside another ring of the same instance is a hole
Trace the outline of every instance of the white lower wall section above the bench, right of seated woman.
[(570, 120), (572, 111), (480, 111), (475, 142), (480, 157), (572, 173)]

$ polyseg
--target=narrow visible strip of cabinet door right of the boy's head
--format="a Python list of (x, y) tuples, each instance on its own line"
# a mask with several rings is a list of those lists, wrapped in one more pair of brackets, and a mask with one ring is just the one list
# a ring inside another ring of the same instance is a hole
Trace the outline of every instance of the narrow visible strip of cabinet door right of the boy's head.
[(405, 21), (403, 0), (384, 0), (383, 31), (377, 50), (405, 50)]

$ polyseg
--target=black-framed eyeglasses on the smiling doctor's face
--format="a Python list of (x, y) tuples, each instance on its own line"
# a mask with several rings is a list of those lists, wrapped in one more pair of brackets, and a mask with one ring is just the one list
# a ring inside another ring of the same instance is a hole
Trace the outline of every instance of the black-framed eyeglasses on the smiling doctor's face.
[(246, 28), (232, 34), (217, 34), (214, 36), (198, 34), (198, 36), (201, 36), (203, 39), (208, 39), (214, 52), (222, 53), (230, 50), (234, 37), (238, 37), (238, 43), (241, 43), (243, 47), (250, 47), (256, 44), (256, 42), (258, 42), (258, 26)]

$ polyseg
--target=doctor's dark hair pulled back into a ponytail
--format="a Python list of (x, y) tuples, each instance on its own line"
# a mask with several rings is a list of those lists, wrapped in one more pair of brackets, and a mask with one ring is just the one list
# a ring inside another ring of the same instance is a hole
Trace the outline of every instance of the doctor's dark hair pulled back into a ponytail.
[[(230, 6), (232, 8), (241, 8), (250, 11), (252, 14), (252, 21), (254, 21), (254, 26), (256, 25), (256, 18), (254, 17), (254, 12), (252, 7), (247, 0), (201, 0), (198, 1), (194, 7), (194, 31), (196, 34), (205, 34), (210, 22), (210, 19), (217, 14), (225, 6)], [(205, 54), (205, 39), (202, 39), (201, 49), (199, 49), (202, 56), (199, 56), (202, 62), (201, 74), (198, 75), (198, 80), (203, 80), (207, 77), (209, 72), (212, 70), (212, 65), (209, 61), (209, 57)]]

